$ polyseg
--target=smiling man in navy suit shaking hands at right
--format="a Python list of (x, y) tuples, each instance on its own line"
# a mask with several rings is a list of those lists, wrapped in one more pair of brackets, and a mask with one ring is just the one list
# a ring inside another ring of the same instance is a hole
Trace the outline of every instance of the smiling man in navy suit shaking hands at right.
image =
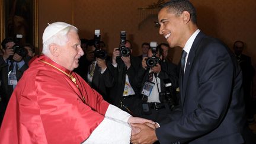
[(172, 0), (158, 14), (159, 33), (170, 47), (183, 47), (179, 110), (169, 121), (141, 129), (132, 143), (244, 143), (242, 73), (235, 56), (221, 41), (197, 27), (196, 10), (187, 0)]

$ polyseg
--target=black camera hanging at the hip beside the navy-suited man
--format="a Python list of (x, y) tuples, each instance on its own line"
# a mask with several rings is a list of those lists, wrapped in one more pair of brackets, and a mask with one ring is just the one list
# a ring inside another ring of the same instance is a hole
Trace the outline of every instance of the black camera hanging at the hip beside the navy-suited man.
[(170, 110), (173, 110), (177, 105), (177, 97), (175, 94), (175, 88), (172, 88), (172, 83), (169, 79), (164, 79), (165, 89), (163, 92), (159, 92), (159, 100), (161, 103), (167, 102)]

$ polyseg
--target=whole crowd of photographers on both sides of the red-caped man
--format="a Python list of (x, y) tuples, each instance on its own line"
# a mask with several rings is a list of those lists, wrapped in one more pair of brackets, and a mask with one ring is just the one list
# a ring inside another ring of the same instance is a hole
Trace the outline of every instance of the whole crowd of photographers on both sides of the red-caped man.
[[(4, 39), (1, 45), (2, 121), (12, 91), (28, 68), (35, 49), (31, 44), (20, 45), (12, 38)], [(162, 46), (166, 44), (143, 43), (142, 55), (132, 56), (132, 41), (126, 40), (126, 32), (121, 31), (119, 47), (114, 48), (110, 56), (100, 39), (100, 31), (95, 30), (94, 39), (81, 39), (85, 55), (74, 71), (109, 103), (133, 116), (161, 121), (178, 105), (177, 66), (166, 60), (168, 51)]]

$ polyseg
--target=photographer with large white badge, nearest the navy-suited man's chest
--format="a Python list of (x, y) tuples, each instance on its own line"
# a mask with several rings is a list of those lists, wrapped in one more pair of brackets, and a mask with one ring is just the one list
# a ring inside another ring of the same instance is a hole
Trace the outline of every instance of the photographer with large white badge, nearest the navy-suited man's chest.
[[(153, 53), (152, 53), (153, 51)], [(178, 87), (177, 66), (173, 63), (162, 62), (162, 49), (151, 47), (148, 57), (142, 60), (142, 67), (137, 72), (137, 84), (142, 93), (142, 117), (153, 121), (162, 121), (177, 105), (175, 88)], [(167, 87), (169, 81), (171, 87)]]

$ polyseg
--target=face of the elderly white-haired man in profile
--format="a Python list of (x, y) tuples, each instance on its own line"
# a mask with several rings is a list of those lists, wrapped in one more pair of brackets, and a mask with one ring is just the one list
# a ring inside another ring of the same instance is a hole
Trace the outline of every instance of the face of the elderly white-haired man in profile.
[(73, 69), (78, 67), (79, 58), (84, 55), (78, 33), (73, 30), (69, 31), (68, 41), (64, 46), (59, 47), (60, 52), (57, 63), (69, 69), (69, 71), (73, 71)]

